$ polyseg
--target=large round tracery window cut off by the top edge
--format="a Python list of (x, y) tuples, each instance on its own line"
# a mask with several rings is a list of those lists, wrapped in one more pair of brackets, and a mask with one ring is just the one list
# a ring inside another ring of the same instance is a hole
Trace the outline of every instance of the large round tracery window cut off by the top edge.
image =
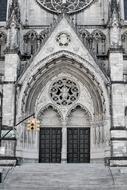
[(74, 13), (88, 7), (94, 0), (36, 0), (42, 7), (55, 13)]

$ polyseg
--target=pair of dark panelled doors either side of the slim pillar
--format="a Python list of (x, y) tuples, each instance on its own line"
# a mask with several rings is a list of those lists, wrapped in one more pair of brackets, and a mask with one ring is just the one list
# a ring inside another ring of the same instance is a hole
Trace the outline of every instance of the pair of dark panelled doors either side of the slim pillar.
[[(67, 162), (90, 162), (90, 128), (67, 128)], [(39, 162), (60, 163), (62, 157), (62, 128), (40, 130)]]

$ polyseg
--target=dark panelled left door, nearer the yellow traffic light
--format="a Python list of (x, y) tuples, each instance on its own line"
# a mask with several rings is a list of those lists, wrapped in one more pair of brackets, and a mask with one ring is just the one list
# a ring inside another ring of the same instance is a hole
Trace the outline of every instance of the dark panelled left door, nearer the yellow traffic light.
[(60, 163), (61, 162), (61, 128), (40, 129), (40, 151), (39, 162)]

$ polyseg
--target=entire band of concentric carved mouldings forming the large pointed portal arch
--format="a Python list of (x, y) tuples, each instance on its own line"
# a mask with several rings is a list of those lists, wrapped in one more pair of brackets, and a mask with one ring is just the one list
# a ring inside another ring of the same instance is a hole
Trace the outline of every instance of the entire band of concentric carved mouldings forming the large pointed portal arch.
[[(60, 54), (60, 55), (59, 55)], [(63, 56), (61, 56), (63, 54)], [(67, 56), (65, 57), (65, 55)], [(59, 55), (59, 57), (58, 57)], [(73, 56), (77, 61), (74, 61), (74, 59), (70, 59), (70, 57)], [(54, 59), (53, 59), (54, 57)], [(101, 71), (101, 75), (96, 75), (99, 73), (98, 67), (97, 73), (95, 74), (94, 71), (90, 70), (89, 63), (86, 68), (82, 62), (78, 62), (79, 56), (75, 56), (72, 53), (69, 53), (66, 51), (57, 52), (56, 54), (53, 54), (52, 60), (49, 60), (50, 57), (48, 57), (46, 60), (43, 60), (44, 63), (47, 62), (47, 64), (42, 64), (42, 62), (38, 63), (37, 69), (34, 70), (34, 73), (31, 74), (29, 77), (29, 80), (26, 81), (26, 85), (22, 87), (22, 91), (20, 94), (20, 101), (19, 101), (19, 107), (21, 108), (20, 111), (23, 113), (28, 112), (34, 112), (35, 109), (35, 103), (36, 99), (38, 97), (38, 94), (40, 93), (40, 89), (43, 89), (43, 87), (47, 84), (48, 81), (50, 81), (54, 76), (57, 76), (61, 72), (69, 73), (72, 76), (76, 77), (78, 80), (80, 80), (84, 85), (88, 86), (88, 89), (90, 90), (91, 97), (93, 99), (93, 104), (95, 110), (98, 110), (99, 112), (104, 112), (106, 107), (108, 110), (108, 103), (103, 104), (103, 96), (106, 96), (106, 102), (108, 101), (106, 91), (101, 93), (101, 88), (104, 88), (100, 76), (103, 77)], [(56, 58), (58, 57), (58, 58)], [(56, 59), (55, 59), (56, 58)], [(84, 62), (84, 59), (82, 58), (81, 61)], [(63, 64), (64, 63), (64, 64)], [(84, 62), (86, 64), (86, 62)], [(43, 67), (42, 67), (43, 65)], [(99, 79), (98, 79), (99, 77)], [(108, 80), (106, 78), (103, 78), (105, 82)], [(24, 78), (26, 80), (26, 77)], [(99, 80), (99, 82), (98, 82)], [(27, 85), (29, 84), (29, 85)], [(28, 88), (29, 86), (29, 88)], [(28, 89), (28, 90), (27, 90)], [(103, 104), (103, 105), (102, 105)], [(107, 112), (107, 111), (106, 111)], [(22, 114), (21, 113), (21, 114)]]

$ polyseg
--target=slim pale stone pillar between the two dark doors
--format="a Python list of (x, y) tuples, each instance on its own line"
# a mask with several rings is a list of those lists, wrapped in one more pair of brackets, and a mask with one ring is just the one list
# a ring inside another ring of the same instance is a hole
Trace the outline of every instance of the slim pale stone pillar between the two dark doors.
[(62, 128), (62, 152), (61, 152), (61, 161), (62, 163), (67, 162), (67, 127), (65, 122), (63, 122)]

